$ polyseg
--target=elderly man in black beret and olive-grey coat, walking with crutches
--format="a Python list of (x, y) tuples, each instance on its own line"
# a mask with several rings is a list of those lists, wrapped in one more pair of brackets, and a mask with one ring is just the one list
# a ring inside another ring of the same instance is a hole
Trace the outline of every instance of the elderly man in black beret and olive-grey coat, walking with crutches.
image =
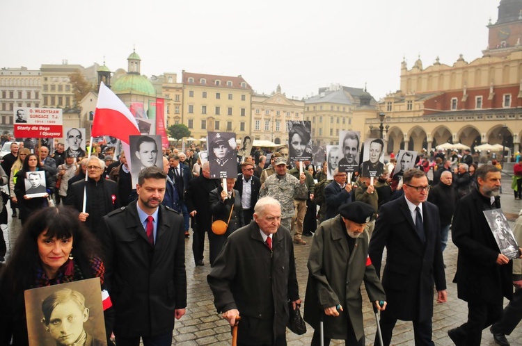
[(368, 257), (365, 226), (375, 209), (361, 201), (342, 204), (339, 215), (322, 222), (315, 232), (308, 258), (304, 320), (314, 329), (311, 345), (320, 345), (319, 316), (324, 313), (324, 345), (331, 339), (346, 345), (365, 345), (363, 328), (364, 281), (370, 301), (386, 308), (381, 281)]

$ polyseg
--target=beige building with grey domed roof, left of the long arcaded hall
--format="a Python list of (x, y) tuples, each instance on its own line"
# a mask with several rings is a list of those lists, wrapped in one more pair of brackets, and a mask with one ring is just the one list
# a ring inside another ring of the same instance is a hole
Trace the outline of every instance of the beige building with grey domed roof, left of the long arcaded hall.
[(377, 102), (362, 88), (331, 85), (305, 100), (305, 120), (312, 122), (313, 145), (339, 142), (339, 132), (353, 130), (365, 135), (365, 119), (377, 113)]

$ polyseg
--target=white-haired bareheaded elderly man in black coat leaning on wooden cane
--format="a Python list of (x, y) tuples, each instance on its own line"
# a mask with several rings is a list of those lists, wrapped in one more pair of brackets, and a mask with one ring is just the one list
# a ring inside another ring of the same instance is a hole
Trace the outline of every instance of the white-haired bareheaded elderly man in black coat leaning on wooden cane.
[(301, 304), (294, 244), (280, 220), (279, 202), (260, 199), (254, 221), (228, 237), (207, 277), (218, 313), (230, 325), (241, 316), (237, 345), (286, 345), (289, 308)]

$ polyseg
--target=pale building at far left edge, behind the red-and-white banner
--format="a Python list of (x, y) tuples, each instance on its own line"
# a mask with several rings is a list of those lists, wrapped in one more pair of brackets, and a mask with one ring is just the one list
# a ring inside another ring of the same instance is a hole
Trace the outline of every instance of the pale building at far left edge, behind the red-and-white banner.
[(0, 69), (0, 133), (13, 133), (13, 109), (42, 106), (42, 74), (38, 69)]

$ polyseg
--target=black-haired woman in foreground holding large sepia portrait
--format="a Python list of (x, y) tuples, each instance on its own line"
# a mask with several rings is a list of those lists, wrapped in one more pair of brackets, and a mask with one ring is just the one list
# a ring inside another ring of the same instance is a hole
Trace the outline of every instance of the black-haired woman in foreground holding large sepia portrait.
[[(103, 286), (104, 272), (100, 245), (77, 211), (50, 207), (33, 212), (0, 274), (0, 345), (11, 337), (13, 345), (29, 344), (24, 290), (93, 277)], [(112, 331), (111, 310), (104, 313), (107, 336)]]

